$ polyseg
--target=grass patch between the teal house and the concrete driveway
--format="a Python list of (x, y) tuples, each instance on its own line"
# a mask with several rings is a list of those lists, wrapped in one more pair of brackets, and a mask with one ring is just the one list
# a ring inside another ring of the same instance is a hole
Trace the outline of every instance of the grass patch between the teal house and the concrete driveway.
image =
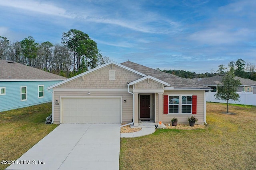
[(51, 103), (0, 112), (0, 160), (17, 160), (55, 129), (58, 125), (44, 124), (51, 112)]

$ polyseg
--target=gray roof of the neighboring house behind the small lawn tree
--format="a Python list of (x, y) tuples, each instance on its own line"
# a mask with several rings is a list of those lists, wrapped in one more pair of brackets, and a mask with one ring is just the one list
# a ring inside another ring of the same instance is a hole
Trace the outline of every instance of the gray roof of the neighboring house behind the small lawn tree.
[[(213, 76), (213, 77), (206, 77), (206, 78), (193, 78), (193, 80), (197, 83), (197, 84), (201, 84), (201, 85), (205, 85), (205, 86), (217, 86), (218, 84), (222, 84), (221, 83), (221, 79), (225, 74), (220, 74), (217, 76)], [(242, 86), (254, 86), (256, 85), (256, 81), (251, 80), (249, 78), (242, 78), (242, 77), (238, 77), (235, 76), (236, 79), (239, 79), (240, 82), (242, 83)]]

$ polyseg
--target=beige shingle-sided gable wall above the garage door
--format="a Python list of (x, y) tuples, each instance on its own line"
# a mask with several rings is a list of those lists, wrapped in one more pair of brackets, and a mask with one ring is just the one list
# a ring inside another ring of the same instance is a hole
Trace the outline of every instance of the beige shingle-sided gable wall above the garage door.
[[(109, 80), (110, 70), (115, 70), (115, 80)], [(66, 84), (57, 86), (56, 88), (128, 88), (128, 82), (139, 78), (142, 78), (142, 76), (113, 64), (113, 68), (111, 68), (111, 65), (108, 65), (90, 74), (86, 74), (83, 77), (80, 76)]]

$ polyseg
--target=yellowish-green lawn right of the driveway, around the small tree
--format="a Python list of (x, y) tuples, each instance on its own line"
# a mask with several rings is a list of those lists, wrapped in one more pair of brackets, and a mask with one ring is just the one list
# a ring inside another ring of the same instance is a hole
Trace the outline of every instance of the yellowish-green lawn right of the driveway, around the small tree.
[(120, 170), (255, 170), (256, 106), (207, 103), (206, 129), (121, 138)]

